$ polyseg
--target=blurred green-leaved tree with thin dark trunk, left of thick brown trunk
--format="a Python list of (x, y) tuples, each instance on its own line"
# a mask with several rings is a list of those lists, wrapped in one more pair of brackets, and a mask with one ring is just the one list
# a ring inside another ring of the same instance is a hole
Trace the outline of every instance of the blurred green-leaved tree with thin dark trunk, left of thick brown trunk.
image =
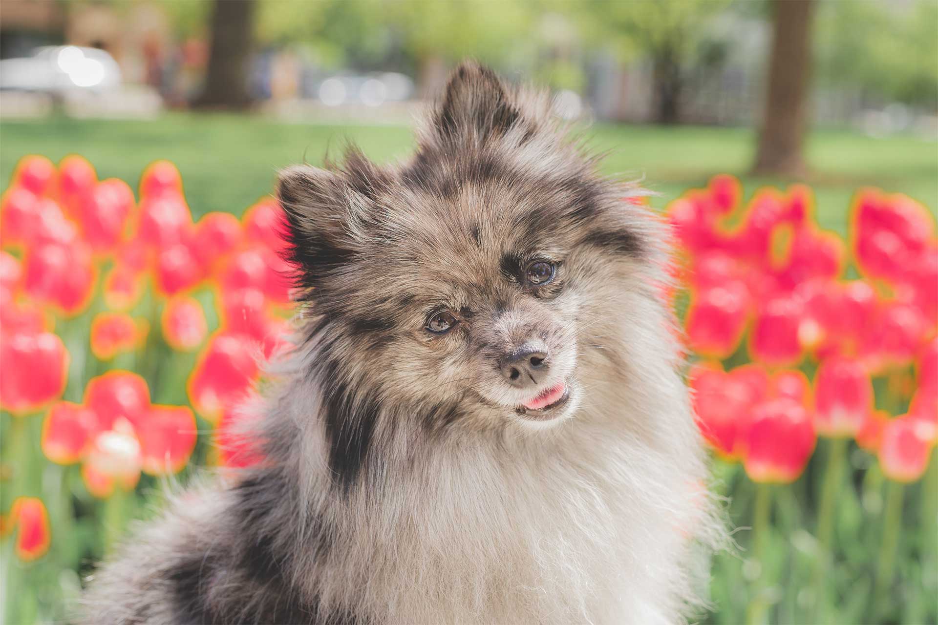
[(680, 121), (685, 69), (697, 51), (703, 25), (728, 4), (729, 0), (593, 0), (586, 6), (590, 18), (598, 21), (598, 29), (624, 39), (620, 44), (627, 56), (645, 55), (650, 59), (655, 121), (674, 124)]

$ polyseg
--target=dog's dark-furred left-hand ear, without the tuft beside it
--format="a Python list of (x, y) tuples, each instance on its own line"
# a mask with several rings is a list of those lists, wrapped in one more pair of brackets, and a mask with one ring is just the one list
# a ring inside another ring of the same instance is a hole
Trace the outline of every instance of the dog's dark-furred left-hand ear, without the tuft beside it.
[(294, 165), (280, 171), (277, 197), (287, 217), (288, 260), (302, 272), (302, 286), (315, 286), (354, 253), (349, 218), (356, 193), (340, 172)]

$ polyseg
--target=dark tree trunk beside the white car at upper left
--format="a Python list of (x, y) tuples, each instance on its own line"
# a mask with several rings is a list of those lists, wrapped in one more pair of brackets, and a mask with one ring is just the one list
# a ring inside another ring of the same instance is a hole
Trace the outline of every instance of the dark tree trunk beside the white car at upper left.
[(243, 109), (250, 105), (248, 76), (255, 0), (215, 0), (205, 89), (194, 105)]

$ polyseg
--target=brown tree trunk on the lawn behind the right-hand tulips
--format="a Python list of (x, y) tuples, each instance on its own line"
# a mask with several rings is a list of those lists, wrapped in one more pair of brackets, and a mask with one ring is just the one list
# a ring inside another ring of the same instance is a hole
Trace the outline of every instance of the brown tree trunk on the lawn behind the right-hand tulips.
[(774, 0), (773, 6), (765, 116), (754, 169), (760, 174), (801, 175), (806, 171), (802, 147), (809, 114), (814, 0)]

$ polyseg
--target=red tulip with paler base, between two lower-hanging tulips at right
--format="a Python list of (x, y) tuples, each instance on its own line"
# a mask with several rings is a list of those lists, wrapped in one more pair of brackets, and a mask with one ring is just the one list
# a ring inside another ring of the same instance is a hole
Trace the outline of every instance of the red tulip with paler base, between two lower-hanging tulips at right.
[(814, 378), (818, 434), (854, 437), (873, 408), (870, 376), (856, 361), (828, 358)]

